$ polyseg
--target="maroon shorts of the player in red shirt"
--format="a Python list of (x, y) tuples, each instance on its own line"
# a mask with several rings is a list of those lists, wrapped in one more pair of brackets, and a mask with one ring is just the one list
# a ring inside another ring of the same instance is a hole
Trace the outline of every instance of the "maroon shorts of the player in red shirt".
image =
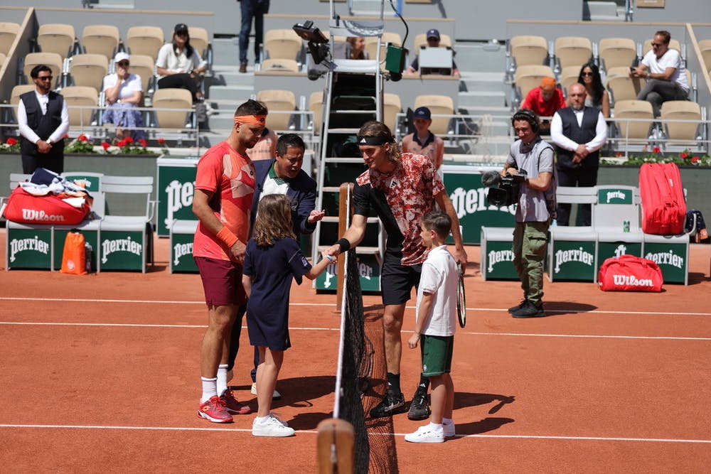
[(195, 257), (208, 306), (243, 305), (247, 303), (242, 286), (242, 265), (229, 260)]

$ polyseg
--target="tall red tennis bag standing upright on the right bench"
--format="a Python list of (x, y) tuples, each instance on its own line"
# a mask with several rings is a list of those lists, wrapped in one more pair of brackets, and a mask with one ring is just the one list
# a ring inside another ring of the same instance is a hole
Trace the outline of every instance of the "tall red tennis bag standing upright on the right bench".
[(676, 235), (684, 232), (686, 203), (675, 163), (644, 163), (639, 168), (642, 232)]

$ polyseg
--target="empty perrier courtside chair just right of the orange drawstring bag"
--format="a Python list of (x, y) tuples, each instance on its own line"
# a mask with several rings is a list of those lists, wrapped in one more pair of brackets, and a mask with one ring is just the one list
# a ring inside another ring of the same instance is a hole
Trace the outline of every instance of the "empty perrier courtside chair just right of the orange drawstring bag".
[[(188, 92), (189, 94), (189, 92)], [(97, 269), (140, 270), (153, 264), (153, 176), (104, 176), (102, 190), (109, 210), (113, 198), (144, 203), (142, 215), (107, 215), (100, 222), (100, 248)]]

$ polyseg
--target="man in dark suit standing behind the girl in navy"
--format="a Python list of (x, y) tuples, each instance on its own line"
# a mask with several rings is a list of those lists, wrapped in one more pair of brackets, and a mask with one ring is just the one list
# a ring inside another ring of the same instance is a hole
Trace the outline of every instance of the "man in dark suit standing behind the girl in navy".
[[(284, 194), (292, 198), (292, 222), (294, 234), (299, 239), (301, 234), (311, 234), (316, 229), (316, 222), (323, 219), (326, 214), (316, 207), (316, 181), (309, 176), (301, 166), (304, 165), (304, 140), (296, 134), (284, 134), (277, 141), (277, 156), (271, 160), (255, 161), (255, 194), (252, 198), (252, 213), (250, 217), (250, 233), (254, 230), (257, 218), (257, 205), (260, 199), (269, 194)], [(242, 330), (242, 316), (246, 310), (240, 308), (237, 320), (232, 325), (232, 338), (230, 339), (230, 357), (228, 371), (232, 371), (240, 348), (240, 332)], [(255, 377), (259, 353), (255, 347), (255, 369), (252, 370), (252, 394), (257, 394)], [(230, 379), (230, 375), (228, 375)], [(274, 390), (274, 398), (281, 395)]]

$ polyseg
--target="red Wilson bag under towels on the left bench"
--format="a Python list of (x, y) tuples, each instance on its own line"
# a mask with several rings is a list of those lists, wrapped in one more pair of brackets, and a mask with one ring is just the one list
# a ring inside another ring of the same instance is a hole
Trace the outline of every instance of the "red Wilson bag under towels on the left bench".
[(7, 200), (5, 218), (21, 224), (75, 225), (82, 222), (90, 210), (86, 198), (81, 208), (75, 208), (58, 195), (35, 196), (18, 186)]

